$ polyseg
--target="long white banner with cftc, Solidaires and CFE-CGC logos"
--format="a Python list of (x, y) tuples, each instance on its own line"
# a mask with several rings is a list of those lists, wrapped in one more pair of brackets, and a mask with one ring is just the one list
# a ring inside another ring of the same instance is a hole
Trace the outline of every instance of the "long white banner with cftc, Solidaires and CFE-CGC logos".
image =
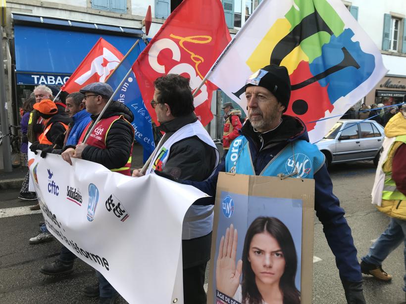
[(182, 222), (207, 195), (154, 174), (135, 178), (85, 160), (72, 163), (29, 151), (48, 230), (128, 303), (183, 304)]

